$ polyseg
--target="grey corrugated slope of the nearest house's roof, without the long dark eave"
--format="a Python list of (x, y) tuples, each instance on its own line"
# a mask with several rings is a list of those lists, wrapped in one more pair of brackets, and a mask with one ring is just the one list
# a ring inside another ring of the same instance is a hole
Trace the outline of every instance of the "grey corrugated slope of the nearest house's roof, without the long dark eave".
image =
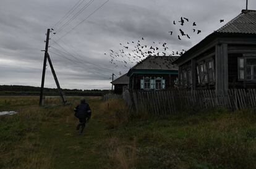
[(218, 33), (256, 33), (256, 10), (242, 10), (242, 13), (235, 17), (223, 27), (216, 30)]

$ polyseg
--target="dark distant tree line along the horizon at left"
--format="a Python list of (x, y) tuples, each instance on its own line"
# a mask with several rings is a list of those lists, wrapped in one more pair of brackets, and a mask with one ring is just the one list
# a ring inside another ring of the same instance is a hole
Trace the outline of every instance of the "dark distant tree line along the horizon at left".
[[(82, 90), (82, 89), (62, 89), (66, 96), (103, 96), (109, 93), (109, 90)], [(33, 86), (19, 86), (19, 85), (0, 85), (0, 96), (4, 95), (28, 95), (38, 96), (40, 94), (40, 87)], [(58, 89), (45, 88), (45, 96), (58, 96)]]

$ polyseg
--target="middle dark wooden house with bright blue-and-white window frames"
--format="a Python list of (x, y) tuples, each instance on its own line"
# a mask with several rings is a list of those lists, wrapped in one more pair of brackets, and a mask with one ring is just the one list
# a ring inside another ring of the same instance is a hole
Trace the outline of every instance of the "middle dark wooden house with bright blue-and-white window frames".
[(174, 56), (148, 56), (130, 68), (130, 89), (171, 89), (178, 77), (177, 65), (173, 65)]

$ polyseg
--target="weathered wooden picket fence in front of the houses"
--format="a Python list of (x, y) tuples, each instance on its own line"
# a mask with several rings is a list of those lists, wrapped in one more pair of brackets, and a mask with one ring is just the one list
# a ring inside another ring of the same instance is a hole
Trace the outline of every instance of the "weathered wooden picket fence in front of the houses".
[(228, 91), (129, 91), (122, 94), (129, 107), (136, 112), (170, 114), (226, 107), (231, 110), (255, 109), (256, 89), (229, 89)]

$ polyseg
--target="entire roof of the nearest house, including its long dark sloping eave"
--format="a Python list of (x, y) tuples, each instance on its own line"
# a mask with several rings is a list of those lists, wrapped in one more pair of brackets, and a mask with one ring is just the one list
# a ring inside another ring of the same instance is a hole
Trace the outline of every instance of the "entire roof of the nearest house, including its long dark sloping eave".
[(191, 47), (187, 52), (185, 52), (181, 57), (174, 61), (174, 64), (178, 64), (182, 59), (189, 56), (194, 49), (205, 43), (212, 41), (216, 36), (221, 35), (256, 35), (256, 10), (242, 10), (241, 14), (235, 17), (233, 20), (229, 21), (221, 27), (220, 29), (214, 31), (206, 38), (204, 38), (200, 43)]

